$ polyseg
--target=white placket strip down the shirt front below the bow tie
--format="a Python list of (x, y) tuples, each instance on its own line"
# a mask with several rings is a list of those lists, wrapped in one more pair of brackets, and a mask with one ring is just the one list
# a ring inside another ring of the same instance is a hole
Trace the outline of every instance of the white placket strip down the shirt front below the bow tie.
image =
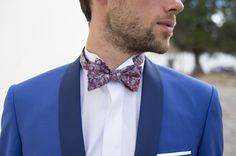
[(105, 118), (103, 131), (102, 156), (121, 156), (122, 153), (122, 120), (123, 103), (122, 89), (119, 83), (107, 85), (110, 103)]

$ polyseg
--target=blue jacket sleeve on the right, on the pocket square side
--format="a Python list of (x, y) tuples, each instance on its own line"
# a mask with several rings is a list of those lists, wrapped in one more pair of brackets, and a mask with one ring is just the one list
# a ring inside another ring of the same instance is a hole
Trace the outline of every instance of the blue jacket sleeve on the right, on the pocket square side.
[(213, 88), (199, 156), (223, 156), (223, 142), (222, 110), (217, 91)]

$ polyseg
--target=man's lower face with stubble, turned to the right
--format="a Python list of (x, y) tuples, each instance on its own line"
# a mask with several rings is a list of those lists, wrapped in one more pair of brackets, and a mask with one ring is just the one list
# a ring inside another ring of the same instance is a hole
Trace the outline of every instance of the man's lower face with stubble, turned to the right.
[(128, 53), (165, 53), (173, 35), (180, 0), (109, 0), (106, 39)]

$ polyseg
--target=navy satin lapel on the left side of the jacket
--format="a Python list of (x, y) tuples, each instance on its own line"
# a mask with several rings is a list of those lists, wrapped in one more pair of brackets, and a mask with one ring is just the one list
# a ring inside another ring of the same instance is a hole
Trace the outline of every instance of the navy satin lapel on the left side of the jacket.
[(85, 156), (80, 107), (80, 63), (70, 64), (59, 91), (59, 133), (62, 156)]

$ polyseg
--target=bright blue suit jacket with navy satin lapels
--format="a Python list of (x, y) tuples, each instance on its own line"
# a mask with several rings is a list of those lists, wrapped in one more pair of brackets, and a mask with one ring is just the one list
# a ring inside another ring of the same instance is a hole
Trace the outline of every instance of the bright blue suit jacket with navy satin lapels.
[[(79, 61), (9, 89), (0, 156), (85, 156)], [(216, 90), (146, 59), (135, 156), (191, 151), (222, 156)]]

